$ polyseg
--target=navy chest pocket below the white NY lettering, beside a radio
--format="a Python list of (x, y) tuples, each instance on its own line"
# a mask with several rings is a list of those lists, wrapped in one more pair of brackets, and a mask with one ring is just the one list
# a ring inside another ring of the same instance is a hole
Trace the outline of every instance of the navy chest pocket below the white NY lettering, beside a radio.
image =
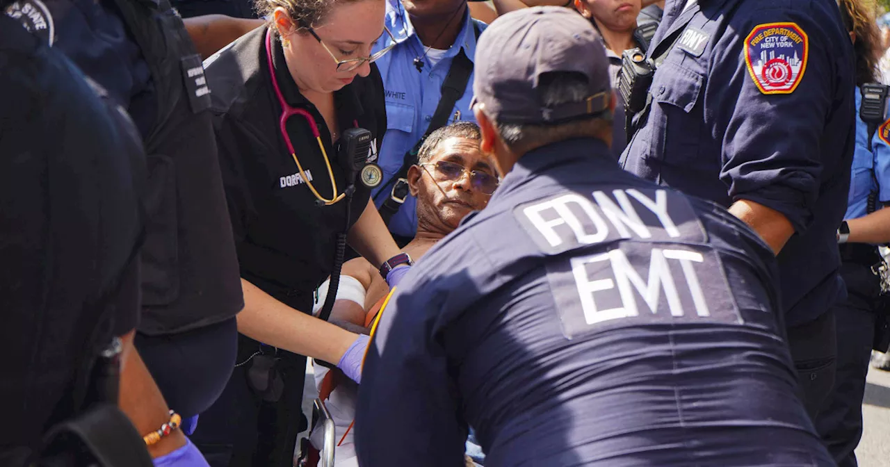
[[(700, 118), (690, 115), (701, 94), (704, 77), (674, 63), (663, 63), (652, 83), (651, 154), (672, 165), (698, 157)], [(716, 159), (719, 160), (719, 159)]]

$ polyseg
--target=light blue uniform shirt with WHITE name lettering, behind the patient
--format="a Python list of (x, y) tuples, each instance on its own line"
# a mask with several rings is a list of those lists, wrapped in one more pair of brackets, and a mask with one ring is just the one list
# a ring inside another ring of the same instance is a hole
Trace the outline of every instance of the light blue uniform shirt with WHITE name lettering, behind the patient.
[[(476, 33), (473, 28), (478, 28), (479, 32), (485, 28), (485, 23), (470, 18), (467, 9), (464, 25), (457, 34), (454, 46), (431, 67), (427, 47), (417, 37), (408, 13), (399, 0), (387, 0), (385, 25), (396, 38), (397, 44), (392, 51), (376, 61), (383, 77), (386, 95), (386, 137), (379, 148), (377, 160), (384, 171), (384, 181), (372, 194), (377, 207), (390, 196), (392, 183), (389, 181), (399, 172), (405, 153), (414, 147), (430, 125), (439, 105), (442, 82), (448, 75), (452, 60), (461, 50), (473, 60), (476, 52)], [(390, 43), (389, 37), (379, 41), (375, 52)], [(424, 61), (424, 67), (419, 73), (414, 64), (418, 57)], [(473, 82), (473, 75), (470, 75), (469, 82)], [(470, 110), (472, 99), (473, 92), (467, 85), (464, 95), (451, 111), (449, 124), (457, 120), (475, 121)], [(399, 212), (392, 215), (390, 231), (402, 237), (414, 237), (417, 231), (416, 209), (417, 200), (409, 195)]]

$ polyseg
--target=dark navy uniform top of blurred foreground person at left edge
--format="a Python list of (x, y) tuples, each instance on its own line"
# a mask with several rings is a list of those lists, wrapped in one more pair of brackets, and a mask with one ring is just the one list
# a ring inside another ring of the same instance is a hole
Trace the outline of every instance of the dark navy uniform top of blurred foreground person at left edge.
[(3, 14), (0, 69), (0, 409), (17, 421), (0, 465), (14, 466), (82, 407), (87, 358), (139, 322), (145, 155), (107, 93)]

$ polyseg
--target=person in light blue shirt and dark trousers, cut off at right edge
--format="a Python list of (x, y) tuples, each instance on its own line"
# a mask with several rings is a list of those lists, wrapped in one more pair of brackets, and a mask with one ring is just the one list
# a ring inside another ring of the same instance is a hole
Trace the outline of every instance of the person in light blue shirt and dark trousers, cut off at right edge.
[(839, 4), (856, 53), (856, 143), (845, 221), (837, 229), (840, 272), (847, 287), (846, 299), (835, 304), (837, 374), (815, 424), (837, 464), (847, 467), (856, 465), (865, 375), (872, 346), (881, 334), (876, 325), (886, 268), (876, 244), (890, 241), (890, 209), (880, 209), (890, 201), (890, 121), (886, 86), (875, 83), (882, 47), (873, 4), (867, 0)]

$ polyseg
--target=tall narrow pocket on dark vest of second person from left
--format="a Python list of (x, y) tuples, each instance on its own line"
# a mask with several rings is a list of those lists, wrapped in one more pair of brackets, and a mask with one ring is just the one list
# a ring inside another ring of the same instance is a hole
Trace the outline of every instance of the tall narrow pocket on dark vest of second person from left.
[(166, 305), (179, 295), (176, 172), (173, 159), (148, 157), (145, 243), (142, 246), (142, 302)]

